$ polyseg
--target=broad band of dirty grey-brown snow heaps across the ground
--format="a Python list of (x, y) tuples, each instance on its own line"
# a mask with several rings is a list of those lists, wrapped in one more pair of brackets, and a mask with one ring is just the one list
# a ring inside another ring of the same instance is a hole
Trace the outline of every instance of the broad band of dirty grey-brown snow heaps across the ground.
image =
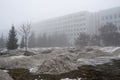
[(31, 73), (59, 74), (82, 65), (105, 64), (120, 58), (119, 47), (35, 48), (28, 49), (28, 52), (34, 55), (25, 56), (23, 50), (8, 51), (7, 56), (0, 56), (0, 68), (25, 68)]

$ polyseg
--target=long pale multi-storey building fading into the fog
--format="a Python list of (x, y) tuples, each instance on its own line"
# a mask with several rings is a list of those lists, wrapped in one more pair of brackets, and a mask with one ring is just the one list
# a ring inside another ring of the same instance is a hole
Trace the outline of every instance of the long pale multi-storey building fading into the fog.
[(73, 13), (40, 22), (34, 27), (37, 27), (36, 32), (38, 33), (46, 33), (48, 35), (64, 33), (73, 45), (74, 40), (80, 33), (99, 34), (99, 28), (108, 22), (112, 22), (120, 29), (120, 7), (94, 13), (87, 11)]

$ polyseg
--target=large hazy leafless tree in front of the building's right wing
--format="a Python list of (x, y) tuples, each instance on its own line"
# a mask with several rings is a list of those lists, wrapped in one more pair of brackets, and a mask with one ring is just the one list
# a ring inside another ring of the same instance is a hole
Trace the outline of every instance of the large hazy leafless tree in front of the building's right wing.
[(106, 23), (99, 31), (104, 46), (120, 45), (120, 33), (118, 32), (118, 27), (116, 25), (113, 23)]

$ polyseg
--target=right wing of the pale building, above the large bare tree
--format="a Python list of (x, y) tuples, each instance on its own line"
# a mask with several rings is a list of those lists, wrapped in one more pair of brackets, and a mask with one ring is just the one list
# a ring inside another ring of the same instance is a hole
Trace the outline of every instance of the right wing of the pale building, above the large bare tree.
[(120, 31), (120, 7), (97, 12), (99, 16), (99, 27), (106, 23), (113, 23)]

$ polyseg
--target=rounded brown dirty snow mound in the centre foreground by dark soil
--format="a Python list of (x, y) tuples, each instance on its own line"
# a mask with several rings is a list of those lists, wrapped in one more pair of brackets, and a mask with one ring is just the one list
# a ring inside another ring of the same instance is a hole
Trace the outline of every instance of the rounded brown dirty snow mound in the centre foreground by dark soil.
[(45, 74), (58, 74), (68, 72), (70, 70), (74, 70), (75, 67), (66, 63), (64, 60), (59, 59), (51, 59), (45, 60), (42, 65), (39, 67), (37, 73), (45, 73)]

